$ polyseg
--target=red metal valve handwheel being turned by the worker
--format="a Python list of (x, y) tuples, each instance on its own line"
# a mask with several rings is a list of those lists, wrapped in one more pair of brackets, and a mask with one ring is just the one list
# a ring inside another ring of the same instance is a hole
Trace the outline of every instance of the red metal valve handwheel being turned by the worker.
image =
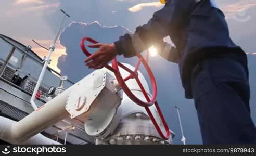
[[(91, 43), (98, 43), (97, 41), (93, 40), (92, 38), (89, 38), (89, 37), (83, 37), (81, 42), (80, 42), (80, 46), (84, 52), (84, 54), (86, 56), (91, 56), (91, 53), (89, 53), (89, 51), (85, 48), (85, 45), (84, 45), (84, 42), (85, 41), (88, 41), (88, 42), (91, 42)], [(109, 65), (106, 65), (105, 68), (109, 69), (110, 71), (112, 71), (114, 73), (114, 75), (116, 76), (117, 78), (117, 81), (119, 83), (119, 85), (121, 86), (121, 88), (123, 89), (124, 93), (132, 100), (134, 101), (135, 103), (137, 103), (137, 105), (139, 106), (142, 106), (142, 107), (145, 107), (150, 119), (152, 120), (153, 124), (155, 125), (156, 129), (157, 129), (157, 132), (159, 133), (159, 135), (165, 139), (165, 140), (168, 140), (170, 138), (170, 131), (169, 131), (169, 128), (168, 128), (168, 125), (167, 123), (165, 122), (164, 120), (164, 117), (163, 117), (163, 114), (158, 106), (158, 103), (156, 101), (156, 98), (157, 98), (157, 85), (156, 85), (156, 80), (155, 80), (155, 77), (147, 63), (147, 61), (142, 57), (142, 55), (138, 54), (137, 55), (138, 57), (138, 63), (135, 67), (135, 70), (132, 71), (131, 69), (127, 68), (126, 66), (124, 66), (122, 63), (118, 62), (117, 61), (117, 58), (114, 58), (112, 60), (112, 67), (109, 66)], [(152, 88), (153, 88), (153, 96), (152, 96), (152, 99), (149, 98), (145, 88), (143, 87), (142, 83), (140, 82), (140, 80), (138, 79), (138, 68), (140, 66), (140, 64), (143, 63), (144, 67), (146, 68), (148, 74), (149, 74), (149, 77), (150, 77), (150, 81), (151, 81), (151, 85), (152, 85)], [(123, 79), (120, 71), (119, 71), (119, 67), (123, 68), (124, 70), (126, 70), (127, 72), (130, 73), (129, 76), (125, 77)], [(139, 88), (142, 90), (142, 93), (143, 95), (145, 96), (147, 102), (145, 101), (142, 101), (140, 100), (139, 98), (137, 98), (132, 92), (131, 90), (129, 89), (129, 87), (125, 84), (125, 81), (127, 80), (130, 80), (130, 79), (135, 79), (136, 82), (138, 83), (138, 86)], [(165, 132), (166, 132), (166, 136), (162, 133), (161, 131), (161, 128), (159, 127), (157, 121), (155, 120), (153, 114), (151, 113), (150, 109), (149, 109), (149, 106), (155, 104), (156, 108), (157, 108), (157, 111), (160, 115), (160, 118), (162, 120), (162, 123), (164, 125), (164, 128), (165, 128)]]

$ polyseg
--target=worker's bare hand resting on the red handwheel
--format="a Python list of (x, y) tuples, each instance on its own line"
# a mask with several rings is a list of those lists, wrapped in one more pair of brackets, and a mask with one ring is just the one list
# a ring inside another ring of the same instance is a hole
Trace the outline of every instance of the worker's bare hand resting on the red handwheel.
[(86, 66), (93, 69), (103, 68), (109, 61), (117, 56), (117, 49), (114, 44), (97, 43), (88, 45), (91, 48), (99, 48), (96, 53), (89, 56), (84, 62)]

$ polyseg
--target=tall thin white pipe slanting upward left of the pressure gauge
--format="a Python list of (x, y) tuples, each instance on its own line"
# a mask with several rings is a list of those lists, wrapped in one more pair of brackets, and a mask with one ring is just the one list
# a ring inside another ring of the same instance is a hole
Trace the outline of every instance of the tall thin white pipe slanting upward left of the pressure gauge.
[(37, 105), (36, 105), (36, 103), (35, 103), (35, 101), (34, 101), (34, 100), (35, 100), (35, 96), (36, 96), (36, 94), (37, 94), (37, 92), (38, 92), (38, 90), (39, 90), (39, 87), (40, 87), (40, 85), (41, 85), (41, 82), (42, 82), (42, 80), (43, 80), (43, 77), (44, 77), (44, 74), (45, 74), (45, 70), (46, 70), (46, 68), (47, 68), (47, 64), (50, 63), (50, 56), (51, 56), (52, 53), (54, 52), (55, 45), (56, 45), (56, 42), (57, 42), (57, 40), (58, 40), (58, 38), (59, 38), (59, 34), (60, 34), (60, 31), (61, 31), (61, 28), (62, 28), (63, 22), (65, 21), (66, 16), (67, 16), (67, 14), (65, 13), (65, 15), (63, 16), (63, 19), (62, 19), (62, 21), (61, 21), (61, 24), (60, 24), (60, 26), (59, 26), (59, 30), (58, 30), (58, 32), (57, 32), (57, 35), (56, 35), (56, 37), (55, 37), (55, 39), (54, 39), (53, 45), (50, 46), (50, 48), (49, 48), (49, 54), (48, 54), (48, 56), (46, 57), (46, 59), (44, 60), (45, 62), (44, 62), (43, 69), (42, 69), (42, 71), (41, 71), (41, 73), (40, 73), (39, 79), (37, 80), (36, 86), (35, 86), (35, 88), (34, 88), (34, 92), (33, 92), (32, 96), (31, 96), (30, 103), (31, 103), (32, 107), (34, 108), (34, 110), (36, 110), (36, 109), (38, 108)]

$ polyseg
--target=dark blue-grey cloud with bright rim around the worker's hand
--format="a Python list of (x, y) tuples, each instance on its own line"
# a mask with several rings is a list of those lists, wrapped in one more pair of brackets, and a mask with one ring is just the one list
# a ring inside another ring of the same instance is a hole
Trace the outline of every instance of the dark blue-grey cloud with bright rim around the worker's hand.
[[(86, 56), (83, 54), (79, 44), (82, 37), (89, 36), (98, 42), (112, 43), (117, 41), (120, 35), (129, 32), (128, 29), (122, 26), (106, 27), (97, 21), (89, 24), (71, 22), (60, 35), (60, 44), (66, 47), (67, 54), (62, 55), (58, 60), (58, 68), (61, 70), (61, 74), (67, 74), (72, 81), (78, 81), (92, 72), (83, 63)], [(95, 50), (90, 49), (90, 51)]]

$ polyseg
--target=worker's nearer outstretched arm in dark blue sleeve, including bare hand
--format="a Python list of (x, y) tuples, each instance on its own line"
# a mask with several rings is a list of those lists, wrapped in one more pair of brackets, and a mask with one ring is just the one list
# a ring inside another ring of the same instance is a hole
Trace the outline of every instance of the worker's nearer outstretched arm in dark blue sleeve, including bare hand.
[(196, 0), (168, 0), (165, 6), (155, 12), (145, 25), (137, 27), (134, 34), (125, 34), (114, 44), (93, 44), (89, 47), (98, 48), (89, 56), (86, 66), (100, 69), (106, 66), (117, 54), (132, 57), (162, 40), (167, 35), (175, 34), (188, 22), (191, 9)]

